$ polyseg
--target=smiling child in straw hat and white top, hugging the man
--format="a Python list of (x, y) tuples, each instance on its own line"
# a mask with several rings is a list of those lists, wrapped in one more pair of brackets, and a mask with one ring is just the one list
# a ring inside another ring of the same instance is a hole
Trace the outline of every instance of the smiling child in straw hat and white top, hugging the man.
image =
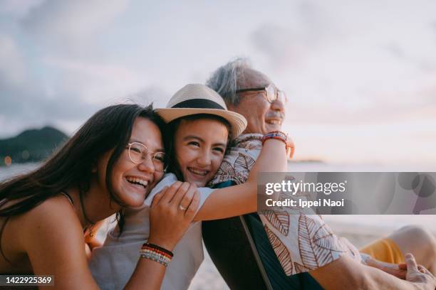
[[(286, 171), (286, 139), (264, 138), (264, 147), (246, 183), (229, 188), (205, 188), (217, 173), (230, 139), (246, 127), (242, 115), (227, 111), (216, 92), (204, 85), (187, 85), (176, 92), (166, 109), (157, 109), (170, 122), (172, 134), (170, 171), (152, 190), (139, 208), (126, 210), (123, 232), (119, 228), (108, 234), (103, 247), (93, 251), (90, 268), (103, 289), (121, 289), (135, 268), (137, 252), (149, 233), (150, 203), (155, 194), (177, 179), (199, 187), (199, 210), (194, 220), (214, 220), (255, 212), (257, 208), (257, 173)], [(164, 195), (165, 196), (165, 195)], [(185, 201), (180, 203), (184, 211)], [(235, 257), (237, 259), (238, 257)], [(193, 222), (174, 249), (162, 289), (187, 289), (203, 259), (201, 224)]]

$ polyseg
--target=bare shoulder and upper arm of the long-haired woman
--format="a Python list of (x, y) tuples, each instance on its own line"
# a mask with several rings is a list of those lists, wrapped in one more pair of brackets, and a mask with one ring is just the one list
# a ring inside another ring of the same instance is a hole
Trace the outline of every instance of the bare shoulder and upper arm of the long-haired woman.
[(35, 274), (55, 275), (61, 289), (95, 286), (86, 261), (83, 229), (66, 198), (49, 198), (11, 226), (22, 229), (17, 237)]

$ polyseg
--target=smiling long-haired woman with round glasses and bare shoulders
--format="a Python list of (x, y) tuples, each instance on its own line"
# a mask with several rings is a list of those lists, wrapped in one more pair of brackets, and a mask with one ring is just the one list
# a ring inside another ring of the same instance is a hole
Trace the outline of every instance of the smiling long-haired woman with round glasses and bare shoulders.
[[(101, 109), (41, 167), (0, 183), (0, 272), (50, 274), (55, 289), (97, 289), (84, 235), (114, 213), (123, 220), (123, 209), (142, 205), (160, 181), (163, 127), (151, 106)], [(172, 250), (194, 217), (194, 193), (188, 183), (176, 183), (155, 198), (150, 235), (143, 238)], [(185, 211), (177, 209), (181, 200)], [(145, 258), (135, 261), (128, 288), (160, 288), (165, 266)]]

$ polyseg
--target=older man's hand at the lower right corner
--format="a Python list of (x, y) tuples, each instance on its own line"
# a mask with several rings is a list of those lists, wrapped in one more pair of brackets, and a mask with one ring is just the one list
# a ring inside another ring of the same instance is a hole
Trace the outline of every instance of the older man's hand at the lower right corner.
[(436, 287), (436, 278), (425, 267), (417, 265), (412, 254), (405, 255), (405, 264), (400, 264), (400, 268), (406, 267), (408, 272), (406, 280), (415, 284), (419, 289), (431, 289)]

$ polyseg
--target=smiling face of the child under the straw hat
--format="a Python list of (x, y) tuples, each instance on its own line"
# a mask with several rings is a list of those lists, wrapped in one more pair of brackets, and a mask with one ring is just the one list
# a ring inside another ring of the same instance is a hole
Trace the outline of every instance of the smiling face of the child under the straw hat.
[(184, 181), (203, 187), (224, 158), (229, 130), (217, 119), (180, 121), (174, 138), (177, 164)]

